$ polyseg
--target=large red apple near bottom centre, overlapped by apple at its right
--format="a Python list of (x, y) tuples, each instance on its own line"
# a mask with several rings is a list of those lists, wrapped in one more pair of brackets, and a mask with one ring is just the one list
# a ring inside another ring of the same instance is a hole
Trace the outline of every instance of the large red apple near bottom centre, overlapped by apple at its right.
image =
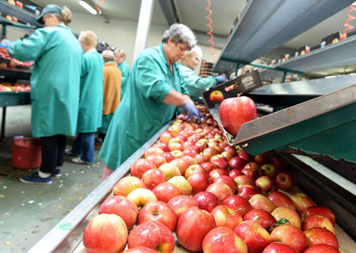
[(213, 215), (198, 207), (189, 207), (180, 215), (176, 235), (182, 246), (192, 252), (202, 249), (205, 235), (216, 227)]

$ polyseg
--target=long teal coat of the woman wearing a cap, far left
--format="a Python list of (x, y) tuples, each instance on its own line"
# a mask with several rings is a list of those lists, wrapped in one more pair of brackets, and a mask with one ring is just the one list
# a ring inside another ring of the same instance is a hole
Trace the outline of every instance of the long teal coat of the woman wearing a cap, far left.
[(37, 29), (14, 41), (10, 56), (34, 60), (31, 74), (33, 137), (75, 135), (83, 50), (68, 26)]

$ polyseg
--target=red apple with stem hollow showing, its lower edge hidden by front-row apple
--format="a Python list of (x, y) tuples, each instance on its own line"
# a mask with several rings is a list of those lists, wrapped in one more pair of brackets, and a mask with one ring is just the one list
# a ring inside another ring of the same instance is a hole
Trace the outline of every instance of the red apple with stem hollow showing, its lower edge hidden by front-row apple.
[(167, 203), (162, 201), (150, 202), (142, 207), (138, 215), (137, 224), (140, 225), (145, 222), (159, 222), (173, 232), (177, 224), (177, 216)]

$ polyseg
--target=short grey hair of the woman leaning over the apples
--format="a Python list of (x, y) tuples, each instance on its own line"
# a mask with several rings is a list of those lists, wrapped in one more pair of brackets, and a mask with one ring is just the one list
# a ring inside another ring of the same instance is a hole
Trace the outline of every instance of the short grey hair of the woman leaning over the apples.
[(188, 50), (197, 44), (197, 38), (195, 38), (193, 31), (184, 24), (172, 24), (168, 30), (164, 31), (162, 42), (167, 43), (169, 38), (175, 44), (186, 43)]

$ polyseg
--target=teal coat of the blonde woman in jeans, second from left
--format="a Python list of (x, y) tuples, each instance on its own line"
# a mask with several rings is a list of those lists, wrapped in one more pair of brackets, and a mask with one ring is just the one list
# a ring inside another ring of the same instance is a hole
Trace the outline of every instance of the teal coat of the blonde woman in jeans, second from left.
[(83, 55), (80, 77), (78, 133), (95, 133), (103, 118), (104, 61), (95, 48)]

